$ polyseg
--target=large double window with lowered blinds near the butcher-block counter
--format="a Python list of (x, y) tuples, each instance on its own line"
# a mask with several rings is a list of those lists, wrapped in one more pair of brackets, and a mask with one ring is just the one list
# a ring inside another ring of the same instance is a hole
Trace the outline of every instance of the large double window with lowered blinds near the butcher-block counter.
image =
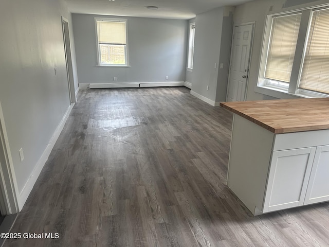
[(268, 23), (258, 86), (304, 97), (329, 96), (329, 8), (272, 15)]

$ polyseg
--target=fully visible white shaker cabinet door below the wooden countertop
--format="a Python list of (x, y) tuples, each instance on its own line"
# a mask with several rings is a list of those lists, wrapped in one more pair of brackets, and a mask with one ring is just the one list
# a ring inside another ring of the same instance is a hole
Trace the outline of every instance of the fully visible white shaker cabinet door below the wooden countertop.
[(316, 148), (272, 152), (263, 213), (304, 204)]

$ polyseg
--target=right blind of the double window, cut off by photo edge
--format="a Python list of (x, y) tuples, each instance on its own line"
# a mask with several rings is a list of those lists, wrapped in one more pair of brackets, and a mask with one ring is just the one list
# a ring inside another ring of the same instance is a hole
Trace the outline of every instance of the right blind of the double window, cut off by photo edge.
[(329, 93), (329, 9), (313, 12), (299, 88)]

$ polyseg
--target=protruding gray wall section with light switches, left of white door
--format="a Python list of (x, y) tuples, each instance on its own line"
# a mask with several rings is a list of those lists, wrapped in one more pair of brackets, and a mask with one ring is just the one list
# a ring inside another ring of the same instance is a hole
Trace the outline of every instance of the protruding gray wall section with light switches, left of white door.
[[(192, 91), (212, 101), (225, 101), (227, 86), (225, 78), (228, 75), (227, 64), (229, 63), (226, 50), (230, 50), (231, 47), (229, 40), (232, 34), (232, 15), (230, 12), (233, 10), (233, 7), (216, 8), (197, 14), (195, 19)], [(224, 19), (225, 16), (228, 18)], [(228, 37), (222, 39), (222, 31)], [(222, 56), (221, 51), (224, 52)], [(220, 61), (225, 63), (223, 69), (218, 69)]]

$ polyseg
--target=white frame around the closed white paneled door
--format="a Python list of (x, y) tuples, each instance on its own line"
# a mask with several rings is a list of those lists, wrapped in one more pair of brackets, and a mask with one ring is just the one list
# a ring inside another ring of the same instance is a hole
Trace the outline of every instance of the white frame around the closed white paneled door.
[(234, 43), (234, 31), (235, 27), (240, 27), (240, 26), (246, 26), (246, 25), (252, 25), (252, 31), (251, 31), (251, 40), (250, 40), (250, 50), (249, 50), (249, 59), (248, 59), (248, 76), (246, 78), (246, 90), (245, 90), (245, 95), (243, 97), (243, 101), (246, 101), (247, 98), (247, 89), (248, 89), (248, 82), (249, 82), (249, 66), (250, 66), (250, 61), (252, 57), (252, 49), (253, 49), (253, 38), (254, 38), (254, 30), (255, 30), (255, 25), (256, 22), (246, 22), (246, 23), (240, 23), (240, 24), (233, 24), (233, 33), (232, 33), (232, 43), (231, 43), (231, 56), (230, 56), (230, 69), (228, 73), (228, 81), (227, 81), (227, 87), (226, 87), (226, 101), (228, 101), (228, 91), (229, 91), (229, 83), (231, 79), (231, 66), (232, 66), (232, 55), (233, 55), (233, 43)]

